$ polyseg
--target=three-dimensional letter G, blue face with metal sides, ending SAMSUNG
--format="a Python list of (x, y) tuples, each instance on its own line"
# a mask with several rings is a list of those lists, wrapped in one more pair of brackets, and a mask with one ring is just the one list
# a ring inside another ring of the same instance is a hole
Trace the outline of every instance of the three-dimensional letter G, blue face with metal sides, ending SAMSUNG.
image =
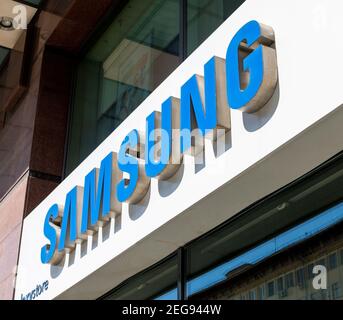
[(227, 95), (232, 109), (253, 113), (272, 97), (278, 78), (272, 44), (273, 30), (257, 21), (248, 22), (232, 39), (226, 53)]

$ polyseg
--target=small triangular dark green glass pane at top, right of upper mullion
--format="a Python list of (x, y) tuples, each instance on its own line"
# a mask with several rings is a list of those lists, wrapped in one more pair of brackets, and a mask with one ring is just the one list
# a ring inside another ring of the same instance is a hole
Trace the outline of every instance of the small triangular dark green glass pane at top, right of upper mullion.
[(191, 54), (245, 0), (188, 0), (187, 54)]

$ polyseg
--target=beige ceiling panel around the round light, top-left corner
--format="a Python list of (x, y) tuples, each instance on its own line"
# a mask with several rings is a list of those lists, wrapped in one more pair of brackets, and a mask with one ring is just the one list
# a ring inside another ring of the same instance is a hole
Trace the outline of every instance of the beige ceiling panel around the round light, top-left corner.
[[(24, 7), (26, 9), (27, 24), (30, 23), (33, 16), (37, 12), (36, 8), (30, 7), (28, 5), (24, 5), (17, 1), (1, 0), (0, 1), (0, 18), (2, 17), (15, 18), (18, 15), (18, 13), (20, 14), (20, 12), (13, 11), (15, 7), (17, 7), (20, 11), (21, 11), (20, 7)], [(13, 49), (23, 32), (25, 32), (25, 29), (2, 30), (0, 28), (0, 46)]]

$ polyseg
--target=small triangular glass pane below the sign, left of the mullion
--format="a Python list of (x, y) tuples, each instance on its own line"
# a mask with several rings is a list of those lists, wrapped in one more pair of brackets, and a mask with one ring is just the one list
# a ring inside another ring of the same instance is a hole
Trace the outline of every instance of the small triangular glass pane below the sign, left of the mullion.
[(170, 259), (132, 277), (114, 289), (105, 300), (176, 300), (177, 258)]

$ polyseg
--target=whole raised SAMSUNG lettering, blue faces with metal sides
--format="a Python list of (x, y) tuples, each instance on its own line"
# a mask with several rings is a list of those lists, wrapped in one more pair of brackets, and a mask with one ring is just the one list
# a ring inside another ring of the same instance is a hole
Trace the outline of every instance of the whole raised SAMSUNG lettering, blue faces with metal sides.
[(180, 86), (180, 99), (161, 101), (161, 112), (146, 118), (144, 133), (132, 128), (119, 152), (110, 152), (75, 186), (63, 206), (54, 204), (44, 222), (47, 244), (41, 262), (59, 264), (76, 244), (87, 241), (120, 215), (122, 203), (137, 204), (150, 179), (170, 179), (183, 155), (195, 155), (203, 139), (218, 141), (231, 129), (230, 108), (253, 113), (272, 97), (277, 85), (277, 59), (272, 28), (251, 21), (231, 40), (226, 59), (213, 57), (204, 76), (193, 75)]

